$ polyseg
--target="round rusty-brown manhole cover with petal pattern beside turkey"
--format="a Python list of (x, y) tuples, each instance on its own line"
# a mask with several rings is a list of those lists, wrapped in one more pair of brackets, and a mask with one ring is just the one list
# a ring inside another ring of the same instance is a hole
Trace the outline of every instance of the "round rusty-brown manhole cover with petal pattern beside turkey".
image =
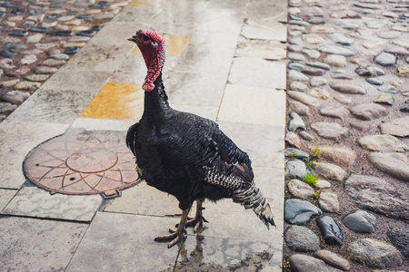
[(24, 170), (28, 180), (52, 194), (102, 194), (111, 199), (141, 181), (125, 145), (125, 131), (66, 132), (30, 151)]

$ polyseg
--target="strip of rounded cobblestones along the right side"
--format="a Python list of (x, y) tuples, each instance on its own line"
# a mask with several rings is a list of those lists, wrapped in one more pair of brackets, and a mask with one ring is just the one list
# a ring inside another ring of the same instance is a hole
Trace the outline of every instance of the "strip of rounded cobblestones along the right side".
[(407, 271), (409, 2), (288, 12), (284, 268)]

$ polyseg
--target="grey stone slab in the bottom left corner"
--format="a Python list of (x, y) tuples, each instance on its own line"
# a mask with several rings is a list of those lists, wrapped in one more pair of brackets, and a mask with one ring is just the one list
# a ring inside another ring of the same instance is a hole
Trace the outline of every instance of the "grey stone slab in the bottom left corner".
[(0, 271), (64, 271), (87, 224), (0, 217)]

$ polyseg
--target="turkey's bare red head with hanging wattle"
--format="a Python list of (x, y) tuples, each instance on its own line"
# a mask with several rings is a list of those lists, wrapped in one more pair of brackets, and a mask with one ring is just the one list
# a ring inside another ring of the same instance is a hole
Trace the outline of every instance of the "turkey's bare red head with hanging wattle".
[(142, 89), (151, 92), (155, 89), (155, 80), (165, 64), (165, 41), (152, 30), (138, 30), (135, 35), (128, 38), (128, 41), (138, 45), (144, 56), (148, 69)]

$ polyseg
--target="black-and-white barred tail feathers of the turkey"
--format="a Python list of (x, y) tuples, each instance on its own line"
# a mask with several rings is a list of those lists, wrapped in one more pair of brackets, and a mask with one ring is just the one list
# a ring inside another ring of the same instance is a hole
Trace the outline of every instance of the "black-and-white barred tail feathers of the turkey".
[(270, 229), (270, 224), (275, 226), (270, 204), (267, 203), (261, 190), (255, 186), (254, 182), (248, 183), (246, 188), (235, 189), (233, 201), (244, 205), (245, 209), (253, 209), (268, 229)]

